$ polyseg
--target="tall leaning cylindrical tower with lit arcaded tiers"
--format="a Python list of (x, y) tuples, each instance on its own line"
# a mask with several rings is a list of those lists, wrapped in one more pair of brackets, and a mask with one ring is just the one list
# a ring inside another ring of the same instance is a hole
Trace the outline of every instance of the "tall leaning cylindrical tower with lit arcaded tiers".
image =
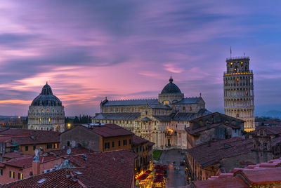
[(226, 59), (223, 74), (224, 113), (244, 120), (244, 130), (254, 130), (254, 74), (249, 57)]

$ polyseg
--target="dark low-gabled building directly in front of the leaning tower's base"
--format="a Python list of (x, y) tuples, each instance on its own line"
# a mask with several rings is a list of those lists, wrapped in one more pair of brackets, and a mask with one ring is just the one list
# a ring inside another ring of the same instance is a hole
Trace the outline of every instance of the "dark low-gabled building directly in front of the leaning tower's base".
[(188, 138), (188, 149), (213, 140), (244, 137), (244, 121), (218, 112), (201, 116), (190, 121), (185, 128)]

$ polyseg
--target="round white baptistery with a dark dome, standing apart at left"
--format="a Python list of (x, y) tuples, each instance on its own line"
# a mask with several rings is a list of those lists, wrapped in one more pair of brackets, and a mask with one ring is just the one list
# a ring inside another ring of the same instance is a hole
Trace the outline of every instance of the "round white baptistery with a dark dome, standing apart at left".
[(53, 95), (51, 87), (46, 83), (40, 95), (35, 98), (28, 111), (28, 129), (65, 130), (65, 110), (62, 102)]

